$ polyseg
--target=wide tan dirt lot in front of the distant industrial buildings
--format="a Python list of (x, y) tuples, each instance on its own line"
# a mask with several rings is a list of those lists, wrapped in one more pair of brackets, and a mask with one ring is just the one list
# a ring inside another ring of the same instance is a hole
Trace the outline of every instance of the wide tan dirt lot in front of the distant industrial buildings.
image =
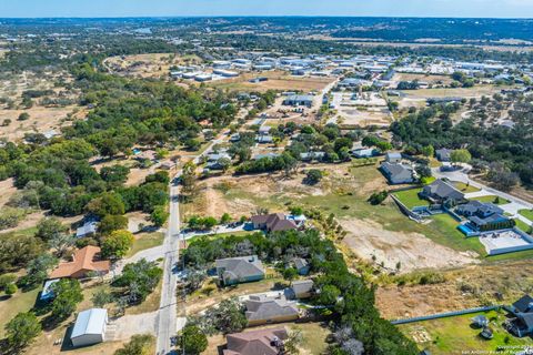
[[(250, 79), (258, 77), (265, 77), (269, 78), (269, 80), (260, 83), (249, 82)], [(333, 78), (300, 78), (289, 75), (283, 71), (266, 71), (261, 73), (244, 73), (239, 78), (210, 82), (209, 85), (233, 91), (251, 90), (262, 92), (266, 90), (301, 90), (309, 92), (320, 91), (333, 81)]]

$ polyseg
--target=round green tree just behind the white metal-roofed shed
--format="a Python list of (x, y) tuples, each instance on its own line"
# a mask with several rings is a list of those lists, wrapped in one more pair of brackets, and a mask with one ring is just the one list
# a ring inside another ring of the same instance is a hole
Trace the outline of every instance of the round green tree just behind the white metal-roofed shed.
[(74, 278), (61, 278), (51, 286), (51, 291), (56, 295), (51, 317), (57, 322), (67, 320), (76, 311), (78, 303), (83, 301), (80, 282)]

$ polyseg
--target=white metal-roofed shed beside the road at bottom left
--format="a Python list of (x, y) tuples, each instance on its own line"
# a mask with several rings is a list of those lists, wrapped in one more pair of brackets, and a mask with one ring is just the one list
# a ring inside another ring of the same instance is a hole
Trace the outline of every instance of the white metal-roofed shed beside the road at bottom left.
[(70, 335), (72, 345), (78, 347), (102, 343), (105, 341), (107, 325), (107, 310), (91, 308), (80, 312)]

